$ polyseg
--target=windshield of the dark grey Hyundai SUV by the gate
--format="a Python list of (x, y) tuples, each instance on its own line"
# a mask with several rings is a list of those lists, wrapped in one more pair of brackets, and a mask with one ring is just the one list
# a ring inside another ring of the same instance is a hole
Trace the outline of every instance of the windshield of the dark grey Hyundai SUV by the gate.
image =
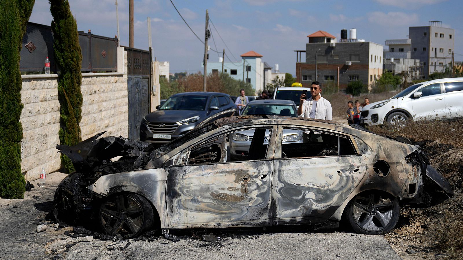
[(173, 96), (164, 102), (159, 110), (204, 110), (207, 96), (181, 95)]

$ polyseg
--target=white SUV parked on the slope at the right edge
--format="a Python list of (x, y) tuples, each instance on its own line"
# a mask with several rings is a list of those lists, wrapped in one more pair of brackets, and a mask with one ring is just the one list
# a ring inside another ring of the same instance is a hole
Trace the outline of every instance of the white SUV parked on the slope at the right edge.
[(394, 97), (363, 108), (365, 125), (404, 124), (405, 120), (432, 120), (463, 117), (463, 78), (420, 82)]

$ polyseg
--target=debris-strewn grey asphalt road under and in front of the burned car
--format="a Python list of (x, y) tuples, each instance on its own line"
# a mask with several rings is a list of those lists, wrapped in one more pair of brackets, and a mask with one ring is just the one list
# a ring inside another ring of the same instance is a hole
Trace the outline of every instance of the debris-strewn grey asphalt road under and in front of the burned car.
[(43, 221), (53, 210), (54, 191), (64, 176), (48, 174), (47, 186), (36, 186), (24, 199), (0, 199), (0, 259), (401, 259), (382, 235), (316, 232), (303, 226), (222, 229), (215, 242), (194, 238), (191, 230), (174, 233), (180, 235), (178, 242), (161, 236), (154, 241), (84, 242), (64, 235), (72, 227), (55, 229), (53, 224), (37, 233), (34, 221)]

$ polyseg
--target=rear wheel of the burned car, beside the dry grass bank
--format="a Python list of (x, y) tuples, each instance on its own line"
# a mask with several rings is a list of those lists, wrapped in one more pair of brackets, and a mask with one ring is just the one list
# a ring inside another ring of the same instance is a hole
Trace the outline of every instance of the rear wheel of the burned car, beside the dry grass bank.
[(362, 192), (346, 207), (347, 220), (360, 234), (388, 233), (399, 220), (399, 201), (386, 192)]

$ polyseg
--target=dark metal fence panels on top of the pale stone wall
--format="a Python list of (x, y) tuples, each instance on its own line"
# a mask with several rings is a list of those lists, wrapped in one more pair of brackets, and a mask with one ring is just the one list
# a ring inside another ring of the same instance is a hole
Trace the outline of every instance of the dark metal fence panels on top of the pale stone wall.
[[(53, 34), (51, 26), (28, 23), (21, 49), (21, 73), (42, 73), (45, 58), (50, 60), (51, 73), (56, 73), (53, 55)], [(110, 38), (79, 31), (82, 49), (82, 72), (117, 71), (117, 37)]]

